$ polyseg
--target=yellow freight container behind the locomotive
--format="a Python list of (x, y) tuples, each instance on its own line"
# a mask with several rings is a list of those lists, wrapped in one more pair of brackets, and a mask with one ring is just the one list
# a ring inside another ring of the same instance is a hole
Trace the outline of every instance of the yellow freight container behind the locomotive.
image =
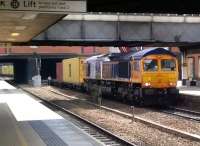
[(65, 59), (63, 65), (63, 82), (82, 84), (84, 79), (84, 58)]

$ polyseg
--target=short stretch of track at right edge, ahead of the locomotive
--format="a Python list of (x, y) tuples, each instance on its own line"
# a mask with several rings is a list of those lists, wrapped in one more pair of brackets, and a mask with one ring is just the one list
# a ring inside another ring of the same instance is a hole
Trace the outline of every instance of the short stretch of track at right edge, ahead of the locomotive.
[(168, 107), (167, 109), (161, 111), (167, 114), (200, 122), (200, 112), (177, 108), (177, 107)]

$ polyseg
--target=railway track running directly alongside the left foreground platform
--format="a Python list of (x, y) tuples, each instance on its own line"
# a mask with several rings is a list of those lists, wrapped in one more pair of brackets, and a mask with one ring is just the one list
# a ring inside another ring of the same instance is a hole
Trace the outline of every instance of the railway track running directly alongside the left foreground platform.
[[(22, 89), (22, 88), (20, 88)], [(51, 101), (44, 100), (40, 96), (37, 96), (25, 89), (22, 89), (23, 91), (27, 92), (28, 94), (38, 98), (39, 100), (43, 101), (48, 107), (57, 109), (58, 111), (62, 111), (67, 115), (72, 116), (74, 119), (72, 122), (81, 128), (83, 131), (85, 131), (90, 136), (96, 138), (101, 143), (103, 143), (105, 146), (137, 146), (135, 143), (130, 143), (121, 137), (114, 135), (113, 133), (109, 132), (108, 130), (98, 126), (97, 124), (88, 121), (87, 119), (80, 117), (79, 115), (67, 110), (66, 108), (63, 108), (59, 104), (55, 104)]]

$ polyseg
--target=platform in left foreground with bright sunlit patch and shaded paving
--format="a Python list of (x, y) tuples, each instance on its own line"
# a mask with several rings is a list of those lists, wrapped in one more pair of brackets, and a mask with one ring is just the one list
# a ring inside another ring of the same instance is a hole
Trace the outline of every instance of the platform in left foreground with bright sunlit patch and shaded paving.
[(72, 122), (0, 81), (0, 146), (101, 146)]

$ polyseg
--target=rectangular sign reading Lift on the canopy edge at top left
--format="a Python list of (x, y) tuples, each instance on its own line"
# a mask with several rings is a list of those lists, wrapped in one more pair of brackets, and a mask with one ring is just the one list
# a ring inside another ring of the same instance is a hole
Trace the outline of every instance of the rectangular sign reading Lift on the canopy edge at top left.
[(86, 12), (86, 0), (0, 0), (0, 11)]

